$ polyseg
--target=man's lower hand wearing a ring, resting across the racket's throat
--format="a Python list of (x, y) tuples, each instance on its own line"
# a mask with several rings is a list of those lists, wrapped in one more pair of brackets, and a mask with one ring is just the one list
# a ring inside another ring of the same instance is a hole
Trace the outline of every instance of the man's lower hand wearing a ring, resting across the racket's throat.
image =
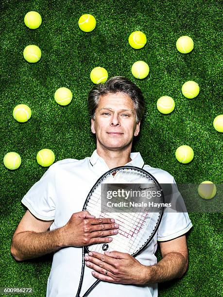
[[(85, 260), (86, 266), (95, 270), (92, 271), (92, 275), (99, 280), (143, 284), (141, 275), (145, 266), (127, 253), (105, 251), (103, 255), (98, 252), (89, 252)], [(106, 270), (107, 275), (105, 275)]]

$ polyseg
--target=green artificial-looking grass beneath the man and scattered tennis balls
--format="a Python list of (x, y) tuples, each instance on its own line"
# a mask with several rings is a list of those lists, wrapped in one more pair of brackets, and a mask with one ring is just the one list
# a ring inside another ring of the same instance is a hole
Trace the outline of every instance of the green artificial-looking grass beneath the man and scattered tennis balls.
[[(31, 10), (42, 16), (36, 30), (23, 22)], [(2, 0), (0, 12), (0, 286), (33, 287), (34, 296), (42, 297), (51, 255), (17, 263), (10, 254), (11, 238), (25, 213), (22, 197), (46, 171), (36, 162), (38, 150), (52, 149), (58, 161), (83, 159), (96, 148), (87, 113), (94, 67), (105, 67), (109, 77), (127, 77), (143, 91), (146, 114), (132, 151), (140, 151), (146, 164), (170, 172), (177, 182), (222, 183), (223, 135), (212, 124), (215, 116), (223, 114), (222, 1)], [(85, 13), (97, 21), (91, 33), (78, 27)], [(137, 30), (147, 36), (140, 50), (128, 44), (128, 36)], [(194, 41), (189, 54), (175, 47), (182, 35)], [(23, 49), (30, 44), (42, 51), (36, 64), (23, 58)], [(137, 60), (150, 66), (144, 80), (131, 74)], [(189, 80), (200, 86), (195, 99), (181, 93)], [(62, 86), (73, 93), (65, 107), (54, 101), (54, 92)], [(175, 100), (170, 115), (156, 109), (157, 99), (164, 95)], [(12, 116), (13, 108), (21, 103), (32, 110), (27, 123), (18, 123)], [(174, 156), (176, 148), (185, 144), (195, 154), (187, 165)], [(9, 151), (16, 151), (22, 159), (15, 171), (3, 165)], [(222, 296), (222, 214), (189, 216), (193, 223), (187, 236), (189, 269), (183, 279), (159, 284), (159, 295)], [(161, 259), (159, 251), (157, 257)]]

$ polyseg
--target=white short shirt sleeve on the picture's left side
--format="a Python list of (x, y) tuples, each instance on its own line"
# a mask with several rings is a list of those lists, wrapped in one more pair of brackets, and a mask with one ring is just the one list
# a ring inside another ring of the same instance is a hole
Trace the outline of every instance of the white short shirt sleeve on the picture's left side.
[(21, 202), (35, 217), (45, 221), (54, 219), (56, 207), (55, 164), (48, 168)]

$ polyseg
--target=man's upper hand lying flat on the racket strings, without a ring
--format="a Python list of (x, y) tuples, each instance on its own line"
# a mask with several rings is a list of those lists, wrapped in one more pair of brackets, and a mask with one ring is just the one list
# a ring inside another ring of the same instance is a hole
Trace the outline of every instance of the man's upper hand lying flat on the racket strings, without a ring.
[(64, 246), (83, 247), (98, 243), (108, 243), (118, 233), (119, 225), (111, 218), (95, 218), (88, 211), (74, 213), (62, 227)]

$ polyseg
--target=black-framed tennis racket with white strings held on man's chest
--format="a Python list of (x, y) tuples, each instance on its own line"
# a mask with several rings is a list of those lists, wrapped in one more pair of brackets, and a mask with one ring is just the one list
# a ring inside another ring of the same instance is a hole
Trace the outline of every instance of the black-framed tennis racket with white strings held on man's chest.
[[(151, 212), (148, 206), (141, 207), (140, 212), (137, 213), (134, 212), (132, 208), (126, 209), (126, 207), (125, 212), (106, 212), (106, 207), (102, 205), (101, 189), (103, 183), (149, 184), (147, 189), (150, 188), (151, 190), (161, 193), (159, 197), (158, 195), (155, 197), (155, 200), (153, 198), (153, 201), (159, 203), (160, 206), (155, 212)], [(98, 181), (96, 181), (86, 198), (83, 211), (87, 210), (90, 214), (95, 215), (95, 217), (114, 218), (115, 222), (119, 224), (119, 232), (113, 236), (113, 240), (110, 243), (94, 244), (82, 248), (82, 271), (76, 297), (80, 297), (85, 270), (85, 254), (90, 251), (103, 253), (105, 250), (116, 250), (129, 253), (133, 257), (136, 257), (154, 237), (163, 215), (163, 204), (164, 195), (161, 186), (156, 179), (144, 169), (135, 166), (119, 166), (105, 172)], [(102, 210), (104, 211), (102, 212)], [(100, 281), (101, 280), (95, 281), (83, 297), (88, 296)]]

